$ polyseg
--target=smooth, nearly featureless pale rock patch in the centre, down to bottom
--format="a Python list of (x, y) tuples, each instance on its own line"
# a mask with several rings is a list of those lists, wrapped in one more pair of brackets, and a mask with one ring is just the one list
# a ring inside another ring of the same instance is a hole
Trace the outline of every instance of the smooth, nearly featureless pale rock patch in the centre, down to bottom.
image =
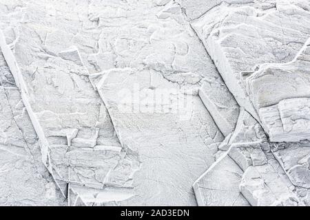
[(122, 146), (141, 163), (134, 197), (124, 204), (194, 205), (192, 184), (214, 162), (217, 147), (211, 144), (223, 140), (200, 98), (148, 70), (103, 72), (96, 87)]

